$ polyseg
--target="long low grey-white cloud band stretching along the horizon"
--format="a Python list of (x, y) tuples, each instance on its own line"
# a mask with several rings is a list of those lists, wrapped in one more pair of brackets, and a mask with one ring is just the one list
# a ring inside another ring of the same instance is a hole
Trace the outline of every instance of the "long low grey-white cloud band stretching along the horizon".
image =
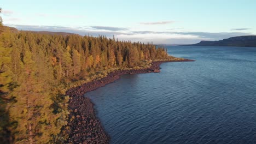
[(245, 32), (176, 32), (176, 31), (130, 31), (128, 28), (87, 26), (87, 27), (63, 27), (63, 26), (30, 26), (30, 25), (7, 25), (25, 31), (51, 31), (67, 32), (80, 35), (106, 35), (112, 38), (115, 35), (119, 40), (142, 41), (162, 44), (193, 44), (201, 40), (221, 40), (241, 35), (252, 35)]

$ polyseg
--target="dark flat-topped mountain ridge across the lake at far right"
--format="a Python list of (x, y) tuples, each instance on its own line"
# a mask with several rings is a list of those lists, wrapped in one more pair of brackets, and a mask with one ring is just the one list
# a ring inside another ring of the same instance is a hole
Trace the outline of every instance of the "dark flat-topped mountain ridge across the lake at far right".
[(247, 35), (240, 37), (231, 37), (218, 41), (200, 41), (197, 44), (186, 46), (241, 46), (241, 47), (256, 47), (256, 35)]

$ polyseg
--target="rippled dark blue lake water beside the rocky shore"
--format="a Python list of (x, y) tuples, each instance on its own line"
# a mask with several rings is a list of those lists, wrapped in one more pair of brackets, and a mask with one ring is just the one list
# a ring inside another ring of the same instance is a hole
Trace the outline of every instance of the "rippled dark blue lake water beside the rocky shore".
[(173, 46), (196, 62), (86, 93), (110, 143), (256, 143), (256, 47)]

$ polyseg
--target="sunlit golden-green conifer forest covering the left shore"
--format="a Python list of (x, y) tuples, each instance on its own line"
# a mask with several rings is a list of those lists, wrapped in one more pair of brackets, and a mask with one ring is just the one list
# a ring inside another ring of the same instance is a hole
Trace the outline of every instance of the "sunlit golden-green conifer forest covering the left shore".
[(68, 135), (68, 88), (117, 69), (171, 59), (152, 44), (99, 35), (53, 35), (0, 26), (0, 140), (63, 143)]

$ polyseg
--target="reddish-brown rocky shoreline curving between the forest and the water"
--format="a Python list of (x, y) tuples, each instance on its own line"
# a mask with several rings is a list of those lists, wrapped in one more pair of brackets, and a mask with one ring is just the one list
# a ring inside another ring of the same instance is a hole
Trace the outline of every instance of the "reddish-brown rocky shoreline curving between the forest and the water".
[(68, 89), (66, 92), (70, 99), (68, 102), (69, 118), (68, 143), (109, 143), (110, 137), (104, 131), (101, 122), (96, 117), (94, 104), (89, 98), (85, 98), (86, 92), (94, 91), (108, 83), (112, 83), (125, 74), (159, 73), (160, 65), (165, 62), (194, 62), (191, 59), (179, 61), (155, 61), (149, 68), (132, 70), (115, 70), (100, 80), (84, 83), (81, 86)]

